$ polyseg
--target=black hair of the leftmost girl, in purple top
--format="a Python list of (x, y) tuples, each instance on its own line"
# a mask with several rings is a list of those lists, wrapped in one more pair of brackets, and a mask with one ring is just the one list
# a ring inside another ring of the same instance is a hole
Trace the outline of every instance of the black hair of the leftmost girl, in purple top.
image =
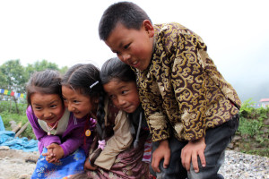
[(26, 84), (27, 104), (30, 106), (30, 96), (33, 93), (56, 94), (63, 102), (60, 73), (54, 70), (34, 72)]

